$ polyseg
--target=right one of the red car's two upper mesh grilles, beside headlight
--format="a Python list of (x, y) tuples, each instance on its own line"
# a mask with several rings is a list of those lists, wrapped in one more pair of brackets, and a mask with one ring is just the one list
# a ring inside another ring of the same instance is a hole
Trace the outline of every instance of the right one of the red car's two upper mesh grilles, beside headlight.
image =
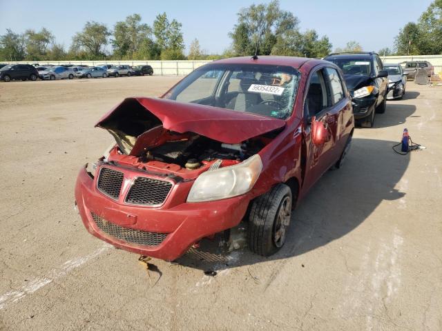
[(137, 177), (126, 196), (126, 203), (134, 205), (161, 205), (172, 188), (170, 181)]

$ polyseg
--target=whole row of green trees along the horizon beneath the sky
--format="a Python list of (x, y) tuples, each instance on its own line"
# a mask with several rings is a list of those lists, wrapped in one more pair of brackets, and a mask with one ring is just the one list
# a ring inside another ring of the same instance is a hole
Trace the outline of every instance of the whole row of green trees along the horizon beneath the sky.
[[(152, 26), (144, 23), (140, 14), (118, 21), (113, 29), (88, 21), (74, 34), (67, 50), (46, 28), (21, 34), (7, 29), (6, 34), (0, 35), (0, 60), (197, 60), (253, 54), (320, 58), (332, 52), (327, 36), (319, 36), (313, 29), (301, 31), (299, 23), (292, 12), (280, 8), (278, 0), (253, 4), (238, 12), (238, 21), (229, 32), (231, 46), (222, 54), (208, 54), (198, 39), (193, 39), (187, 56), (182, 23), (170, 20), (165, 12), (155, 17)], [(360, 43), (349, 41), (335, 52), (362, 50)], [(399, 30), (394, 49), (383, 48), (378, 54), (442, 54), (442, 0), (435, 0), (416, 23), (409, 22)]]

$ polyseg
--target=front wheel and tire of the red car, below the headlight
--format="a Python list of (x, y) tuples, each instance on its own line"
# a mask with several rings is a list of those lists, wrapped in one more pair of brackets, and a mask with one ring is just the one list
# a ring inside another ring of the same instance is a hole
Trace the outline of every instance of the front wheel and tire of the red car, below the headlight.
[(268, 257), (282, 248), (291, 217), (291, 190), (278, 184), (253, 200), (247, 228), (252, 252)]

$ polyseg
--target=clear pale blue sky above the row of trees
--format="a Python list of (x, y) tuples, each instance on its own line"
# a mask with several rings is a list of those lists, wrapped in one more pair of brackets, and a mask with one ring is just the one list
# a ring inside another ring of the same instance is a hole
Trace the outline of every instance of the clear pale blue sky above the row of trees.
[[(209, 53), (225, 50), (230, 39), (227, 35), (236, 23), (240, 8), (267, 0), (0, 0), (0, 34), (11, 28), (23, 32), (28, 28), (46, 27), (55, 34), (58, 43), (70, 46), (75, 32), (86, 21), (105, 23), (113, 28), (133, 13), (142, 15), (152, 25), (155, 16), (166, 12), (169, 19), (182, 23), (186, 46), (197, 38), (202, 49)], [(361, 43), (364, 50), (378, 51), (392, 48), (394, 37), (408, 21), (416, 21), (430, 5), (431, 0), (280, 0), (280, 8), (289, 10), (300, 19), (301, 30), (315, 29), (320, 36), (326, 34), (333, 49), (345, 46), (350, 40)]]

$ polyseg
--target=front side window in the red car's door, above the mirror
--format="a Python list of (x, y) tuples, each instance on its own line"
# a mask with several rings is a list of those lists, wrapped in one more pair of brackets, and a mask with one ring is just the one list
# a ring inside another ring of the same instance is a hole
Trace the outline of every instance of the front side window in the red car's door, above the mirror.
[(329, 100), (323, 70), (318, 70), (310, 78), (304, 105), (305, 116), (308, 118), (314, 117), (328, 107)]

